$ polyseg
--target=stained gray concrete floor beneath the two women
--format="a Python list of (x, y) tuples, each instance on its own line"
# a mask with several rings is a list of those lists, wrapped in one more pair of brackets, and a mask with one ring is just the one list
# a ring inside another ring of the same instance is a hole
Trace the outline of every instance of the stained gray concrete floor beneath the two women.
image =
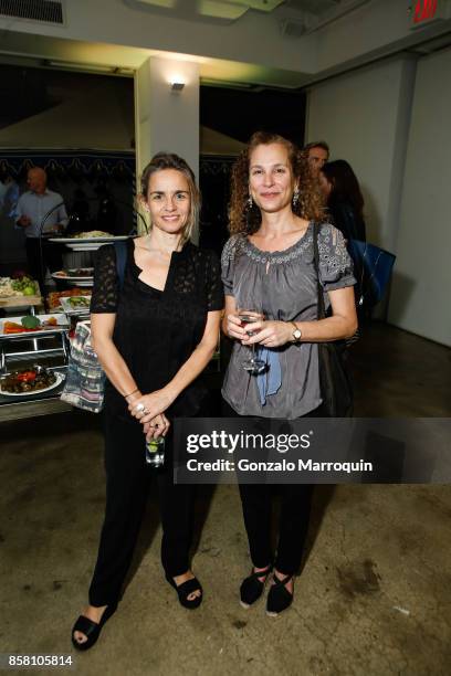
[[(357, 414), (450, 415), (450, 350), (380, 325), (354, 360)], [(103, 518), (98, 426), (82, 413), (1, 425), (0, 653), (72, 654), (83, 676), (451, 673), (451, 492), (439, 485), (317, 487), (295, 601), (277, 619), (238, 602), (250, 559), (234, 486), (200, 492), (195, 612), (164, 581), (150, 496), (119, 610), (75, 653)]]

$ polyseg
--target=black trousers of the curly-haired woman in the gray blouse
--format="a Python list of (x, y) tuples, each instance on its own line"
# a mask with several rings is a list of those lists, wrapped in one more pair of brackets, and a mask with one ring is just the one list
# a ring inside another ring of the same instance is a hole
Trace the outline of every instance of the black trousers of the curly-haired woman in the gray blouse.
[[(238, 414), (223, 402), (222, 414), (235, 418)], [(304, 418), (321, 418), (321, 406)], [(294, 574), (302, 561), (308, 530), (313, 486), (310, 484), (239, 484), (244, 527), (249, 549), (255, 568), (270, 563), (279, 572)], [(277, 527), (275, 557), (271, 543), (272, 503), (275, 492), (281, 496), (281, 511)]]

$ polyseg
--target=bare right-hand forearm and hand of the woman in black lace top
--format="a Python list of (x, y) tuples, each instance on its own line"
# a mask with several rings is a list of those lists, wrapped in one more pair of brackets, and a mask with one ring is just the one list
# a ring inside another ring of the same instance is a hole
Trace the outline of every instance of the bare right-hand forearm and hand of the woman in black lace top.
[[(187, 361), (177, 371), (172, 380), (160, 390), (156, 390), (149, 394), (141, 394), (134, 399), (128, 409), (132, 415), (135, 415), (139, 422), (147, 423), (158, 413), (166, 411), (185, 388), (203, 371), (218, 345), (220, 318), (220, 310), (208, 313), (206, 328), (200, 342)], [(139, 404), (143, 404), (147, 409), (147, 414), (143, 414), (141, 411), (136, 410)]]

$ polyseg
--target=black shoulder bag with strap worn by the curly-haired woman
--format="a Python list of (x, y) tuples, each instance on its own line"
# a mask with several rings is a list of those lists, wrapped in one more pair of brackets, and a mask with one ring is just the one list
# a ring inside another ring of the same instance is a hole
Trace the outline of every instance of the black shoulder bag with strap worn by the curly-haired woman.
[[(323, 287), (319, 282), (319, 224), (313, 229), (313, 255), (317, 284), (317, 318), (325, 319)], [(318, 342), (319, 388), (325, 416), (350, 418), (353, 415), (353, 385), (347, 366), (345, 340)]]

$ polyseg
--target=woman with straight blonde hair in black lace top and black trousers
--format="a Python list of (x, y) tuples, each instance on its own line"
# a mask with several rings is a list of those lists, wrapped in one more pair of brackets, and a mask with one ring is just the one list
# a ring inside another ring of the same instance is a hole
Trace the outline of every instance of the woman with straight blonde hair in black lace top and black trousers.
[(153, 471), (145, 442), (166, 436), (156, 469), (162, 522), (161, 562), (180, 603), (202, 600), (189, 548), (193, 486), (174, 484), (172, 416), (202, 414), (199, 376), (219, 334), (223, 293), (219, 262), (190, 241), (200, 204), (195, 176), (172, 154), (156, 155), (141, 178), (150, 232), (127, 242), (123, 284), (114, 246), (99, 249), (91, 302), (93, 347), (106, 373), (106, 513), (90, 604), (72, 630), (86, 651), (115, 612), (139, 530)]

